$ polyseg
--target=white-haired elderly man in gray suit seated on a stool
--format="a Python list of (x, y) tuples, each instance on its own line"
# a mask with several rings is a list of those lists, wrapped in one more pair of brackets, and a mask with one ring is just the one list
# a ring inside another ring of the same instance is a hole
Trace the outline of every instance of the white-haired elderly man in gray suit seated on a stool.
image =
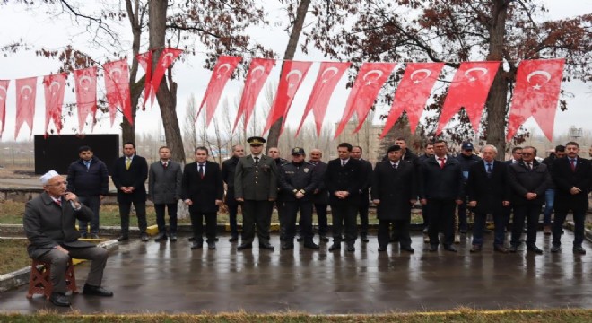
[(65, 191), (67, 182), (55, 170), (40, 179), (44, 192), (27, 202), (23, 223), (30, 241), (30, 258), (51, 263), (53, 292), (49, 300), (57, 306), (70, 306), (65, 296), (65, 270), (70, 258), (92, 260), (83, 294), (113, 296), (113, 292), (100, 287), (107, 250), (78, 240), (76, 219), (91, 221), (91, 209), (81, 204), (74, 193)]

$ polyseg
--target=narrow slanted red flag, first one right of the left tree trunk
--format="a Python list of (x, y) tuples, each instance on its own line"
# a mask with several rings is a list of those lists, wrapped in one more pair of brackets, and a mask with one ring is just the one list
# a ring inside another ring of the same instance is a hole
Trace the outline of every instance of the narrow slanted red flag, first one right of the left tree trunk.
[(199, 111), (197, 111), (196, 114), (197, 118), (205, 105), (205, 127), (210, 125), (210, 121), (212, 121), (213, 118), (213, 113), (218, 107), (218, 101), (222, 95), (224, 85), (226, 85), (226, 82), (228, 82), (228, 80), (231, 78), (232, 73), (237, 68), (237, 65), (239, 65), (241, 59), (242, 57), (222, 56), (218, 57), (216, 65), (213, 66), (213, 73), (212, 77), (210, 78), (210, 83), (207, 84), (204, 99), (202, 100), (202, 104), (199, 106)]

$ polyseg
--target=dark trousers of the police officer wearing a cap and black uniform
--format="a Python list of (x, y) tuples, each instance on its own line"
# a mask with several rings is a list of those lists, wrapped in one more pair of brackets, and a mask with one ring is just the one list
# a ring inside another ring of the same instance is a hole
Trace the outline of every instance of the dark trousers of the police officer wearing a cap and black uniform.
[(287, 201), (284, 202), (285, 240), (294, 240), (296, 235), (296, 218), (300, 211), (300, 235), (306, 241), (312, 241), (312, 202)]

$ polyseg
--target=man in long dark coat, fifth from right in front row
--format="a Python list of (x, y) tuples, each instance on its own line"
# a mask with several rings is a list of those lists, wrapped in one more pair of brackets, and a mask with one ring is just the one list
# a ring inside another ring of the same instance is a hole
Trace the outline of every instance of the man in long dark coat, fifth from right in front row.
[(392, 223), (400, 249), (414, 252), (409, 226), (411, 207), (417, 199), (417, 179), (414, 165), (401, 161), (402, 155), (400, 146), (395, 144), (389, 147), (388, 161), (379, 162), (373, 173), (371, 194), (379, 218), (379, 251), (387, 250)]

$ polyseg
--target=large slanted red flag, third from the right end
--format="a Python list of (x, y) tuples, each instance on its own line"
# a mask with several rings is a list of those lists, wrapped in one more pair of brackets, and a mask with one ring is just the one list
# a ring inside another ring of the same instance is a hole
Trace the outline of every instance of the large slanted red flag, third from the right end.
[(438, 80), (438, 75), (444, 67), (444, 63), (409, 63), (405, 68), (405, 74), (396, 88), (393, 105), (388, 112), (387, 123), (385, 124), (380, 139), (387, 135), (396, 120), (401, 117), (403, 111), (407, 112), (411, 133), (422, 117), (425, 104), (430, 98), (431, 88)]

